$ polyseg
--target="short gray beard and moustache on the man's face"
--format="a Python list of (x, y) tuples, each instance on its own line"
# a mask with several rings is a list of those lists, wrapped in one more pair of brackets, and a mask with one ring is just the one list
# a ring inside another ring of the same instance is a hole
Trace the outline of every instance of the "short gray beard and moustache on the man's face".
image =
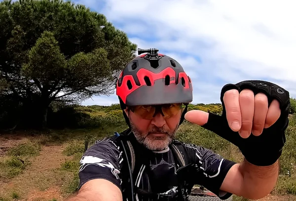
[[(137, 141), (142, 145), (144, 145), (149, 150), (153, 150), (153, 151), (165, 150), (169, 146), (169, 144), (172, 143), (173, 139), (176, 136), (176, 132), (179, 128), (179, 123), (172, 131), (166, 130), (163, 127), (158, 128), (154, 126), (151, 130), (148, 130), (147, 132), (143, 133), (135, 126), (135, 124), (131, 121), (130, 118), (129, 118), (129, 121), (131, 125), (131, 130), (134, 133)], [(149, 135), (150, 133), (153, 133), (153, 132), (161, 132), (161, 133), (165, 133), (166, 135), (160, 136), (160, 137)]]

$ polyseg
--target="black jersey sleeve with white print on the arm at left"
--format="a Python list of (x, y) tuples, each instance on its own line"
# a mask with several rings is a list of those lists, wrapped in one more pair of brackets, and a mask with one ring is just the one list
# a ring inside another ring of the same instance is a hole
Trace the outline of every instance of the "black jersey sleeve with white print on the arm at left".
[(121, 190), (122, 161), (122, 152), (109, 137), (96, 141), (80, 160), (78, 190), (87, 181), (97, 178), (107, 179)]

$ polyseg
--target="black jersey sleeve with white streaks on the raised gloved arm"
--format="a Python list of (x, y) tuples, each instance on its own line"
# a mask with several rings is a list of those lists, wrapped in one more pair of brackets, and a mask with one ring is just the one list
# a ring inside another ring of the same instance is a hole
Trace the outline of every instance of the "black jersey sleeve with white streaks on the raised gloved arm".
[(201, 146), (185, 144), (185, 148), (196, 167), (196, 171), (192, 173), (196, 184), (204, 186), (221, 200), (228, 199), (232, 194), (220, 188), (227, 172), (235, 162), (226, 160), (219, 154)]

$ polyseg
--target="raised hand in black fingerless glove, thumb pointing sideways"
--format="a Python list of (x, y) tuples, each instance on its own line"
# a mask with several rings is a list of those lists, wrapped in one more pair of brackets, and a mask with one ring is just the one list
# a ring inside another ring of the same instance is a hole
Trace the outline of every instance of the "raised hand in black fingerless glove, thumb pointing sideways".
[(286, 142), (289, 92), (271, 82), (247, 80), (223, 86), (220, 99), (222, 116), (193, 110), (185, 119), (236, 145), (247, 161), (273, 164)]

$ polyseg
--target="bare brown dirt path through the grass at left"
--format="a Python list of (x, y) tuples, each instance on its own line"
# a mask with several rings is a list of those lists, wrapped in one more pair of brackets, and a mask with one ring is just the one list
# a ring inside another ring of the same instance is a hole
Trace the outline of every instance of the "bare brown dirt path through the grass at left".
[(15, 190), (21, 194), (20, 200), (48, 201), (55, 198), (62, 201), (54, 170), (62, 162), (71, 159), (62, 154), (65, 147), (66, 145), (43, 146), (40, 155), (31, 161), (28, 169), (9, 183), (1, 185), (0, 195), (6, 196)]

